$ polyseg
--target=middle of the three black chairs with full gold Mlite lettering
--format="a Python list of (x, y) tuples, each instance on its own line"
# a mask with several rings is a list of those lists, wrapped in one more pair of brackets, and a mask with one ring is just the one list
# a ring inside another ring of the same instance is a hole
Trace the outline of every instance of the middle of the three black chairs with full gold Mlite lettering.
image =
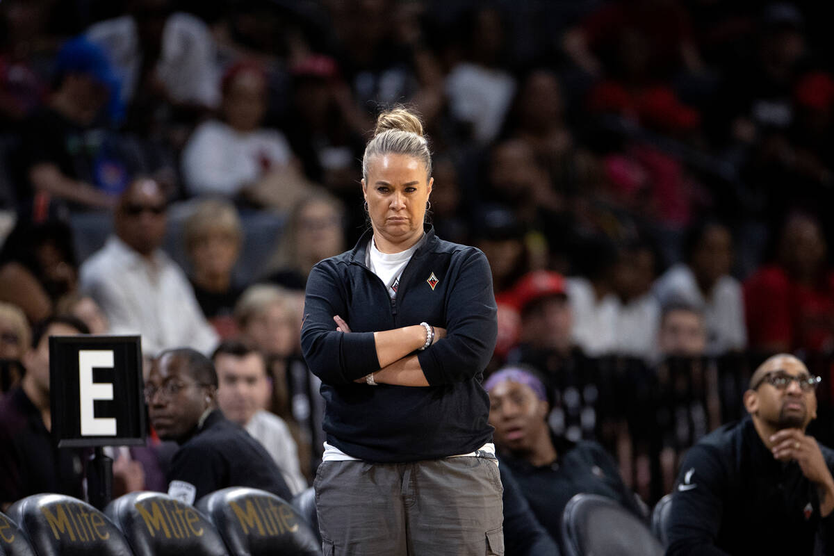
[(136, 556), (225, 556), (223, 538), (196, 509), (163, 493), (128, 493), (105, 510)]

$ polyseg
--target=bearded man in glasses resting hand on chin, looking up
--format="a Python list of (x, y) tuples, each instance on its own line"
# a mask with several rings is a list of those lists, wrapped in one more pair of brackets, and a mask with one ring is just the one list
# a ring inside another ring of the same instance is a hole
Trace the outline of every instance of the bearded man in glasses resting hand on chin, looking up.
[(686, 453), (667, 554), (834, 553), (834, 450), (805, 432), (820, 380), (785, 353), (756, 369), (749, 415)]

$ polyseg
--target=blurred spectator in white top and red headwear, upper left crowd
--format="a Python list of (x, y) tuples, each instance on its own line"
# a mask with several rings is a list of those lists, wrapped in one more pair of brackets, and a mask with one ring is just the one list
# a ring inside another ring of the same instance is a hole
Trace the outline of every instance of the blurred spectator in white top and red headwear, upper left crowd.
[(289, 184), (293, 153), (283, 133), (261, 127), (267, 108), (263, 68), (237, 63), (225, 73), (221, 89), (220, 118), (200, 124), (183, 150), (183, 178), (193, 195), (257, 203), (264, 185)]

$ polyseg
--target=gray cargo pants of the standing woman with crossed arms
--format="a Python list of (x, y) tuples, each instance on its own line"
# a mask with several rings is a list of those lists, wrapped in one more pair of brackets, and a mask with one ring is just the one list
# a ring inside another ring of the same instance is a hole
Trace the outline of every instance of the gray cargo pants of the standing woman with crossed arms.
[(504, 554), (495, 459), (327, 461), (314, 487), (324, 556)]

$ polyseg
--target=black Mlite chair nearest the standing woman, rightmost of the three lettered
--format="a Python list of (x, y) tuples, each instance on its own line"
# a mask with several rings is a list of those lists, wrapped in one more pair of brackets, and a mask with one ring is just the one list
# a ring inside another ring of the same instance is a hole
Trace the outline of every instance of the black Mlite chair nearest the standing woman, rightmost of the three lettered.
[(318, 556), (321, 543), (307, 522), (283, 499), (257, 488), (231, 487), (200, 498), (236, 556)]

